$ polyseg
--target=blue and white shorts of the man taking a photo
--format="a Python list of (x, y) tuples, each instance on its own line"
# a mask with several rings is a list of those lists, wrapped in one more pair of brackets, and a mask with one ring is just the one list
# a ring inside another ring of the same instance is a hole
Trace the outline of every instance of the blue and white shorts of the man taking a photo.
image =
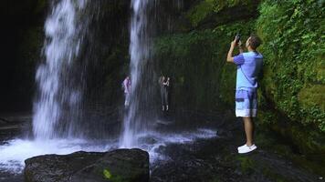
[(257, 90), (236, 90), (236, 116), (257, 116)]

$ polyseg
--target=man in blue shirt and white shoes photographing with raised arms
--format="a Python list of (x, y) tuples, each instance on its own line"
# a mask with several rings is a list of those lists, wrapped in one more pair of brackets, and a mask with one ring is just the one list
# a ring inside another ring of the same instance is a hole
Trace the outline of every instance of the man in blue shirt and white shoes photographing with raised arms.
[[(261, 39), (257, 35), (250, 35), (246, 41), (247, 52), (244, 53), (240, 36), (236, 35), (226, 58), (227, 62), (237, 66), (236, 116), (243, 117), (246, 133), (246, 144), (237, 148), (239, 154), (257, 149), (253, 140), (254, 123), (252, 118), (257, 116), (257, 78), (263, 66), (263, 56), (257, 52), (259, 45), (261, 45)], [(240, 54), (233, 56), (236, 46), (239, 47)]]

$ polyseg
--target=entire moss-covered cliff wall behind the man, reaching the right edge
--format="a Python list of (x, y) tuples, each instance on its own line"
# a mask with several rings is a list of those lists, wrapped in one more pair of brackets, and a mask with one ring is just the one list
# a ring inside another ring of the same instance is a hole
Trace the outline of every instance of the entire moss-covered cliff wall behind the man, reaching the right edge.
[(324, 1), (196, 1), (180, 31), (156, 39), (162, 73), (173, 79), (176, 108), (234, 108), (230, 41), (252, 32), (264, 44), (258, 125), (288, 137), (304, 154), (325, 152)]

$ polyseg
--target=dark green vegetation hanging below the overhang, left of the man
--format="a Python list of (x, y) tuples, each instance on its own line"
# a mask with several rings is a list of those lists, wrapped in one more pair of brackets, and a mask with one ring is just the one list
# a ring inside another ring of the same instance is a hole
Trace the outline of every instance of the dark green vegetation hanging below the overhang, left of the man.
[(172, 100), (176, 105), (211, 110), (223, 107), (222, 101), (233, 103), (236, 66), (225, 66), (226, 50), (237, 31), (249, 35), (251, 29), (246, 25), (253, 28), (254, 22), (166, 35), (156, 40), (155, 56), (163, 74), (173, 78)]

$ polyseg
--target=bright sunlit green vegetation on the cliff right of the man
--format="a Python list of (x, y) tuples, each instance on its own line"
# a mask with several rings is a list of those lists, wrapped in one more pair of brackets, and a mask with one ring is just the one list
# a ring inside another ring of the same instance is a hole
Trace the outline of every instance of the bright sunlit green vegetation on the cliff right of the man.
[(290, 120), (325, 131), (324, 1), (264, 1), (257, 32), (265, 44), (265, 96)]

